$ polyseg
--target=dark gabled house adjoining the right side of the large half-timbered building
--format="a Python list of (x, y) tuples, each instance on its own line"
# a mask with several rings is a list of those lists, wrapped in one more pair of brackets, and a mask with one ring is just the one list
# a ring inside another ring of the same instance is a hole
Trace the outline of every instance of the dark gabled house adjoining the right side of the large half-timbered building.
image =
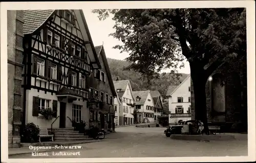
[(113, 129), (115, 108), (114, 98), (117, 96), (103, 45), (95, 47), (101, 69), (95, 69), (90, 76), (90, 93), (88, 106), (90, 109), (90, 126)]

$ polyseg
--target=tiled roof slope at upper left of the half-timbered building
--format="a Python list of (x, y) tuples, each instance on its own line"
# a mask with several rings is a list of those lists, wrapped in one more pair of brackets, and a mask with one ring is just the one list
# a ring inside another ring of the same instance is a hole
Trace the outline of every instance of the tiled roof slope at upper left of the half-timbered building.
[(55, 10), (24, 10), (23, 34), (31, 34), (44, 24)]

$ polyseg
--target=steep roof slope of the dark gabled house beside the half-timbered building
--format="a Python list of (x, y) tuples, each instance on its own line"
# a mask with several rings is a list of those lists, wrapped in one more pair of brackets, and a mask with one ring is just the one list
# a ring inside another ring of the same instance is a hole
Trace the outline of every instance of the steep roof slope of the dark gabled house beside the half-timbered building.
[(112, 79), (112, 76), (111, 76), (108, 60), (106, 60), (106, 54), (105, 54), (103, 45), (95, 46), (95, 51), (96, 51), (98, 57), (99, 57), (100, 54), (102, 56), (103, 64), (104, 64), (105, 69), (106, 69), (106, 75), (108, 76), (109, 84), (110, 84), (113, 96), (116, 97), (117, 93), (116, 93), (115, 85), (114, 85), (114, 82), (113, 82), (113, 79)]

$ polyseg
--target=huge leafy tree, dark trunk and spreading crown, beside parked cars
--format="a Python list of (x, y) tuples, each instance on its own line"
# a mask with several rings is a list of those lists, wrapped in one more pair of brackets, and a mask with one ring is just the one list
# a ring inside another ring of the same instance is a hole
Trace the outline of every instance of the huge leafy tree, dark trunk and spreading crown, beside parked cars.
[[(190, 64), (196, 119), (206, 125), (205, 84), (220, 65), (246, 56), (246, 10), (214, 9), (119, 9), (93, 10), (103, 20), (113, 14), (116, 45), (130, 56), (127, 67), (147, 76), (164, 68), (177, 71), (184, 58)], [(241, 58), (241, 60), (239, 60)], [(240, 63), (238, 63), (240, 64)], [(181, 66), (183, 66), (181, 64)]]

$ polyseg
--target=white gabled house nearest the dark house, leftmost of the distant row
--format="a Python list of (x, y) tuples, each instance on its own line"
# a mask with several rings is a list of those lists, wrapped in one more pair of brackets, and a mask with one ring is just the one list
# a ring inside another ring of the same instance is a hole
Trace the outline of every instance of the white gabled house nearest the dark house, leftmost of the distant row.
[[(134, 124), (134, 107), (135, 99), (129, 80), (117, 80), (114, 82), (121, 105), (119, 107), (119, 125)], [(115, 105), (118, 105), (118, 99), (115, 100)]]

